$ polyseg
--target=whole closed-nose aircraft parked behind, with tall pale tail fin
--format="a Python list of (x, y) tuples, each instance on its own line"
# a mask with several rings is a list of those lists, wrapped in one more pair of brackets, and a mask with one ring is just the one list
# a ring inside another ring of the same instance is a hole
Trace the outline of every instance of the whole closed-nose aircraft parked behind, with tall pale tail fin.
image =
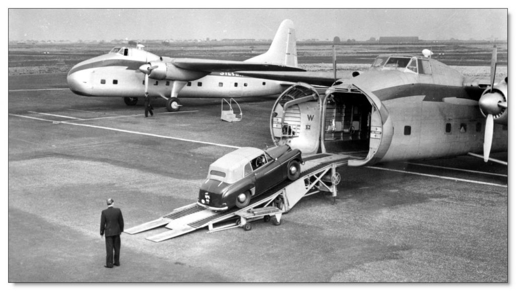
[(108, 54), (76, 64), (68, 73), (72, 92), (84, 96), (123, 97), (136, 105), (147, 93), (167, 99), (178, 111), (181, 98), (278, 95), (290, 84), (256, 79), (235, 71), (304, 71), (297, 68), (294, 23), (284, 20), (269, 50), (245, 61), (159, 57), (138, 47), (115, 47)]

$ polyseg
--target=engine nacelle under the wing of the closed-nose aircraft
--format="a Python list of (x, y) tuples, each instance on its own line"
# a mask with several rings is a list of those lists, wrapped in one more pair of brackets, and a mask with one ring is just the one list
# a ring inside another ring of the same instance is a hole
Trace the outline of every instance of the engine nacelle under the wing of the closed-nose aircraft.
[(149, 65), (152, 71), (149, 74), (149, 78), (155, 80), (171, 80), (171, 81), (184, 81), (188, 82), (191, 80), (197, 80), (209, 74), (208, 72), (190, 71), (175, 67), (172, 62), (166, 61), (151, 61)]

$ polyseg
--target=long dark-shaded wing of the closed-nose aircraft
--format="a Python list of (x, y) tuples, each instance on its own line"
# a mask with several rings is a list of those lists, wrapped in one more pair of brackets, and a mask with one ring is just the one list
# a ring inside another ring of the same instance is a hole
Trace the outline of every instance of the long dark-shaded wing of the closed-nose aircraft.
[(305, 72), (306, 70), (272, 63), (253, 63), (244, 61), (225, 61), (208, 59), (178, 58), (172, 64), (181, 69), (190, 71), (218, 72), (218, 71), (289, 71)]

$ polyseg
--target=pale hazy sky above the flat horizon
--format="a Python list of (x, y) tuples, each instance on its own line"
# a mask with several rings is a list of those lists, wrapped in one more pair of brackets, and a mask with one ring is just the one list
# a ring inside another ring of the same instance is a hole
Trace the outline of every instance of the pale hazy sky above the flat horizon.
[[(503, 7), (503, 6), (502, 6)], [(508, 38), (508, 9), (13, 9), (9, 41), (272, 39), (284, 19), (298, 40)], [(510, 13), (510, 11), (509, 11)]]

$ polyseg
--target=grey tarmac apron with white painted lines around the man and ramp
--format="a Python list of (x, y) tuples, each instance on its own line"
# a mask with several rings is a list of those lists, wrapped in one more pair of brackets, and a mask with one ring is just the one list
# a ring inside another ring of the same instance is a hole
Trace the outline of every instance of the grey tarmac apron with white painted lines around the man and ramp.
[(304, 198), (278, 226), (124, 233), (121, 266), (105, 269), (105, 200), (125, 228), (196, 202), (218, 157), (272, 144), (275, 98), (238, 100), (228, 123), (219, 99), (156, 100), (144, 118), (143, 101), (66, 88), (66, 74), (9, 76), (11, 283), (508, 281), (508, 168), (471, 156), (341, 167), (334, 205)]

